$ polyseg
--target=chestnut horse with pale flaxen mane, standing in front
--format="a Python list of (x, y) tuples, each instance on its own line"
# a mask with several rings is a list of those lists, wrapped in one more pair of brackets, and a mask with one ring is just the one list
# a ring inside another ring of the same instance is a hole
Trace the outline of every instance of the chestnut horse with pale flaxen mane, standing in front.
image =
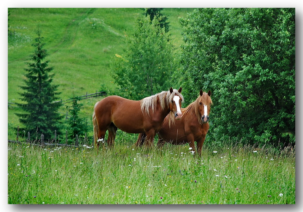
[(120, 96), (108, 96), (94, 106), (94, 144), (99, 149), (104, 144), (108, 130), (108, 146), (112, 147), (119, 128), (127, 133), (145, 133), (146, 146), (154, 145), (154, 136), (161, 129), (164, 118), (172, 113), (173, 119), (181, 119), (181, 102), (184, 100), (179, 90), (162, 91), (139, 101)]

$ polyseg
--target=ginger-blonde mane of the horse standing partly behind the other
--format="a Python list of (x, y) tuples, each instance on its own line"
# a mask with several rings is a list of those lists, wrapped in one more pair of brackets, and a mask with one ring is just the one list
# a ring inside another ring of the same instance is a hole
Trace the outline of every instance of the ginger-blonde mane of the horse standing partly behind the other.
[[(200, 101), (205, 105), (213, 104), (213, 101), (211, 100), (210, 96), (206, 92), (203, 92), (202, 96), (199, 95), (198, 98), (194, 102), (189, 104), (186, 108), (181, 108), (181, 112), (183, 113), (183, 116), (187, 113), (192, 116), (195, 115), (198, 118), (199, 123), (202, 125), (203, 124), (202, 119), (200, 118), (202, 114), (200, 114), (199, 111)], [(171, 120), (174, 114), (169, 113), (168, 115), (169, 115), (168, 120)], [(170, 127), (170, 123), (169, 123), (169, 127)]]

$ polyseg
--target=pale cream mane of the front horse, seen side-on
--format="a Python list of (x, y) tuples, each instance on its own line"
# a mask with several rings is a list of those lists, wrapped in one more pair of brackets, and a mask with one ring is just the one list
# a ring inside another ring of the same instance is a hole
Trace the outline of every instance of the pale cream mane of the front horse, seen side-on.
[(178, 92), (178, 90), (173, 89), (172, 93), (170, 91), (162, 91), (158, 94), (154, 94), (149, 97), (145, 97), (140, 100), (140, 107), (143, 113), (147, 113), (149, 115), (149, 111), (151, 110), (153, 113), (155, 112), (155, 108), (157, 107), (157, 103), (159, 102), (162, 110), (168, 107), (170, 101), (175, 95), (181, 97), (182, 102), (184, 101), (183, 95)]

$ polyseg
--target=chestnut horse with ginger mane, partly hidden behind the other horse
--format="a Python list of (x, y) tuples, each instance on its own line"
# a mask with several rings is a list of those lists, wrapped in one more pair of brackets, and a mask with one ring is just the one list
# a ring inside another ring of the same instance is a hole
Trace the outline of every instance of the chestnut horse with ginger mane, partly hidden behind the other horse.
[[(181, 108), (183, 117), (181, 120), (176, 120), (173, 125), (169, 122), (169, 114), (158, 132), (158, 146), (161, 147), (165, 142), (175, 145), (189, 143), (191, 152), (195, 153), (194, 141), (196, 141), (198, 154), (201, 155), (202, 145), (209, 130), (210, 105), (213, 104), (210, 95), (210, 90), (208, 93), (200, 90), (200, 95), (194, 102), (186, 108)], [(135, 145), (142, 145), (145, 137), (145, 134), (140, 133)]]

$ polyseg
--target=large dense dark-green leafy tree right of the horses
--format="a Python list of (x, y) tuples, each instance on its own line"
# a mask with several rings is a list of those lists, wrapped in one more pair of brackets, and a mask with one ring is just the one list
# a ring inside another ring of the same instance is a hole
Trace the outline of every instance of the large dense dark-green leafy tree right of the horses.
[(187, 103), (212, 91), (212, 142), (295, 142), (295, 8), (200, 8), (181, 19)]

